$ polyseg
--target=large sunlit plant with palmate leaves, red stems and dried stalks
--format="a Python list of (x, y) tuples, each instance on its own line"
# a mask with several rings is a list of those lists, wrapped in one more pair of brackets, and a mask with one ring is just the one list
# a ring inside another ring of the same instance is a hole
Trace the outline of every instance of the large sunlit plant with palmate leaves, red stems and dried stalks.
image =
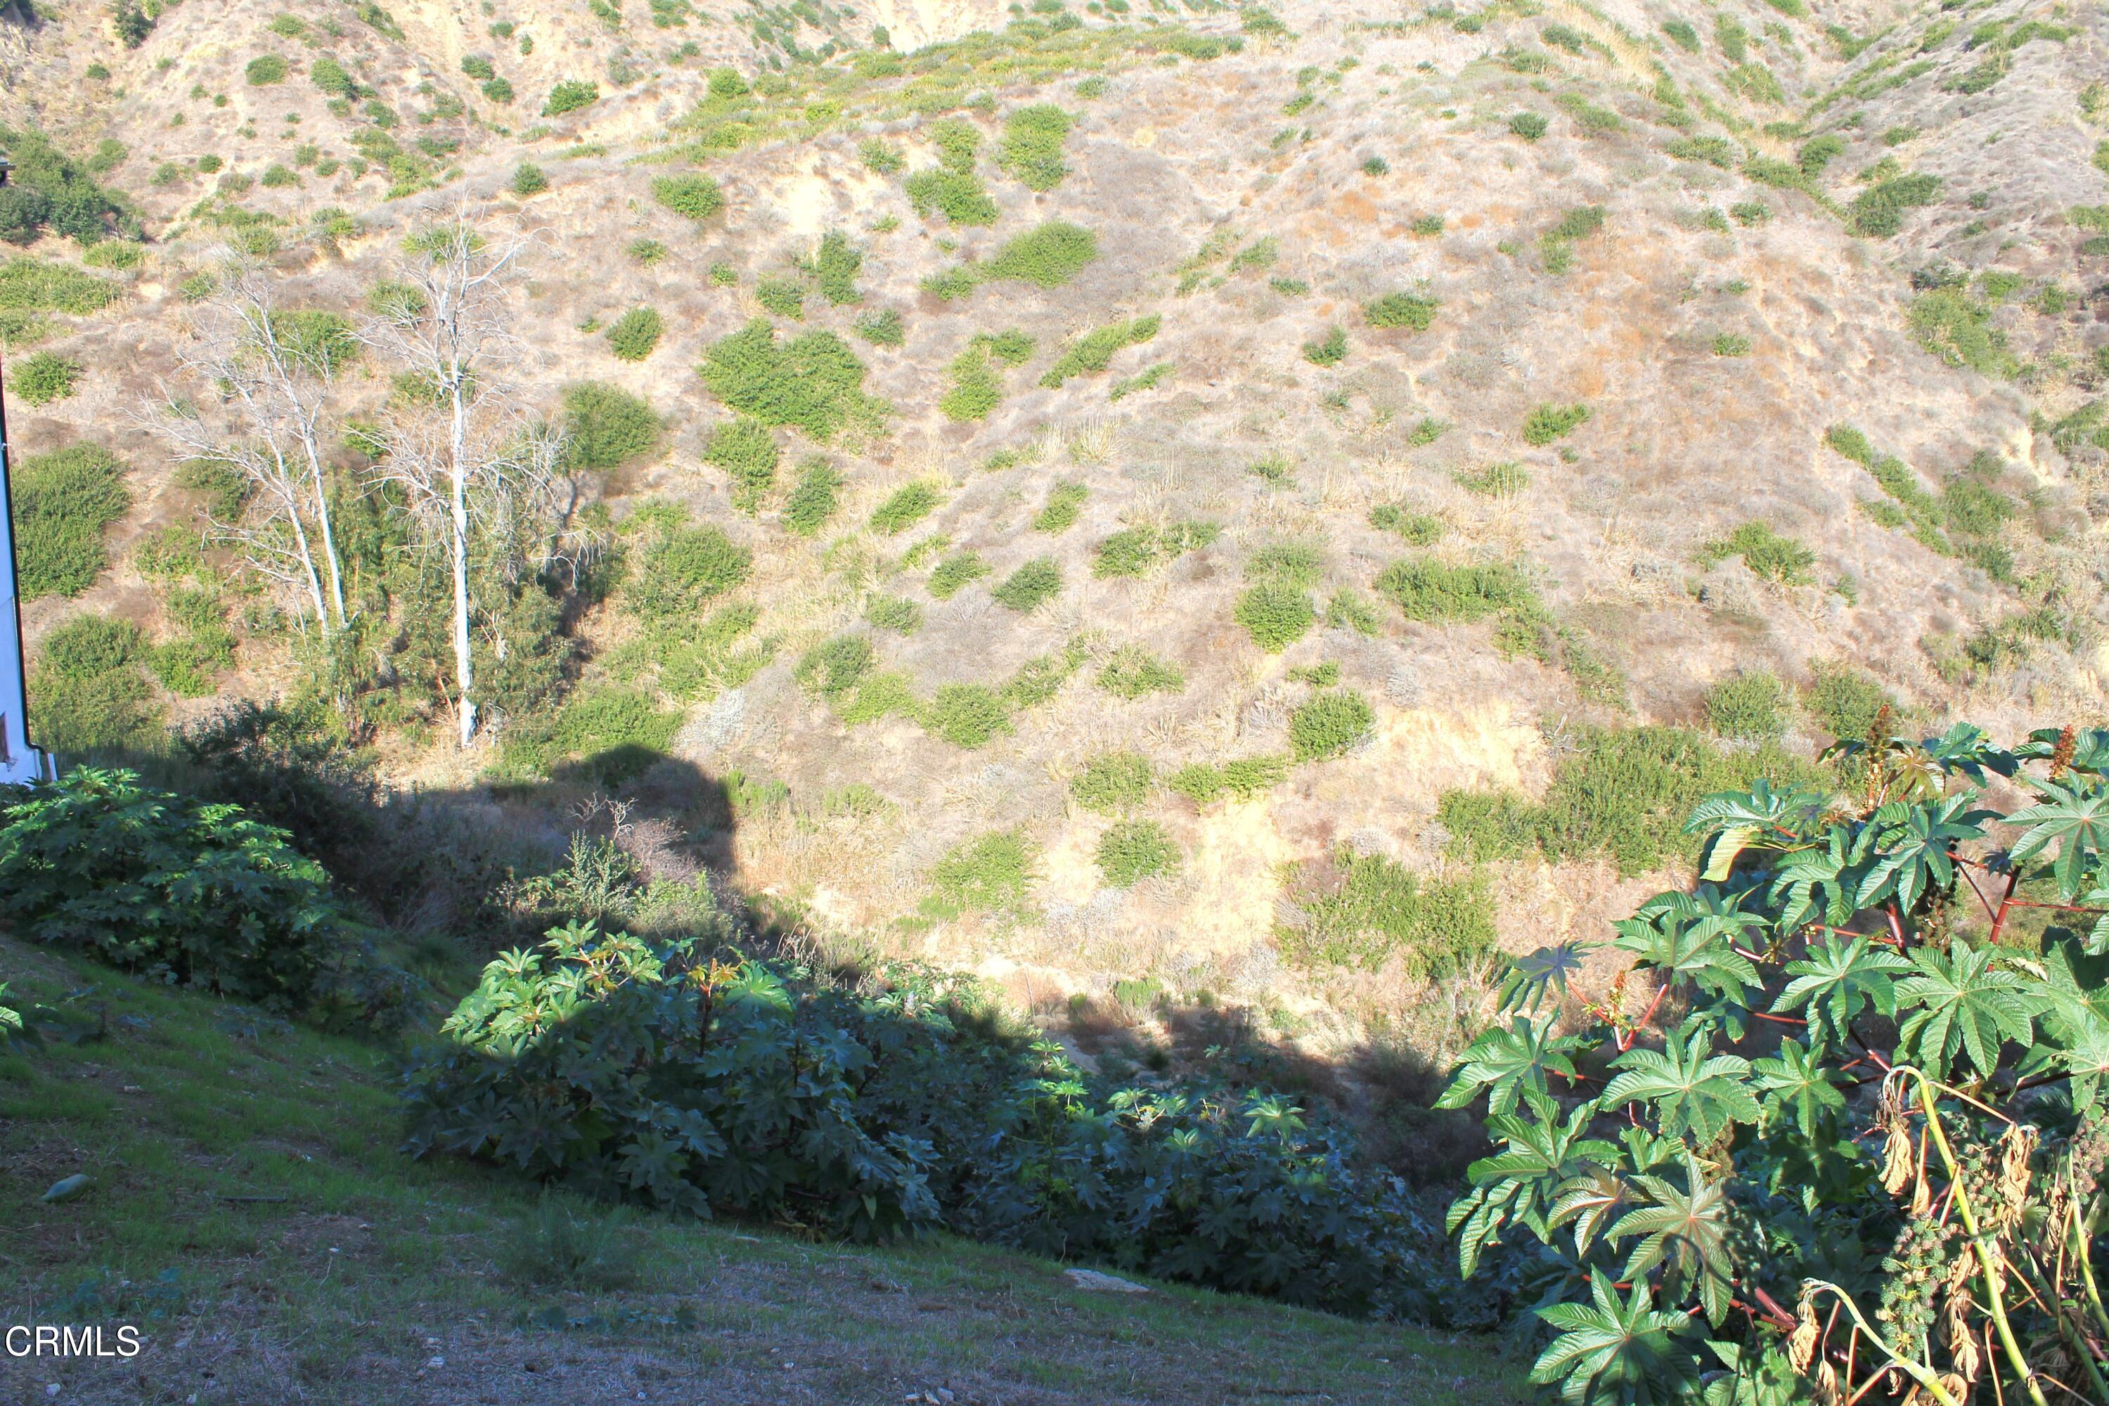
[(2109, 734), (1839, 750), (1856, 795), (1691, 809), (1702, 881), (1613, 925), (1634, 970), (1582, 1029), (1546, 1001), (1590, 944), (1514, 963), (1443, 1098), (1499, 1143), (1462, 1267), (1544, 1246), (1533, 1379), (1565, 1402), (2105, 1398)]

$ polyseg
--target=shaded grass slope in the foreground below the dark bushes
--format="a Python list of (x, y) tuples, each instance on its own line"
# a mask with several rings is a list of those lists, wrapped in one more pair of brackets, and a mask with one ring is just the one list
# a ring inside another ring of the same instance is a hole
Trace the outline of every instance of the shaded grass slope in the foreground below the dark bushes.
[[(0, 1326), (135, 1324), (127, 1362), (0, 1355), (0, 1404), (1521, 1402), (1493, 1345), (932, 1237), (814, 1244), (409, 1161), (388, 1050), (0, 936)], [(63, 1202), (44, 1191), (74, 1174)], [(550, 1214), (620, 1286), (525, 1273)], [(57, 1395), (49, 1395), (49, 1385)]]

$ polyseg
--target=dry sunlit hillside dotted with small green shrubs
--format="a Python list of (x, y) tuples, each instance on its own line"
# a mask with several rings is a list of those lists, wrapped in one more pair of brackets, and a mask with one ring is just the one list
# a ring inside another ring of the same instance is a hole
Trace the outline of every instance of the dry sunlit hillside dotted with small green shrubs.
[[(740, 778), (732, 816), (683, 809), (679, 769), (620, 780), (673, 850), (1029, 1003), (1440, 1043), (1489, 940), (1594, 932), (1675, 866), (1649, 767), (1805, 765), (1877, 689), (1928, 725), (2103, 715), (2098, 4), (479, 8), (4, 30), (0, 116), (116, 143), (91, 164), (150, 236), (23, 251), (120, 295), (36, 314), (80, 375), (11, 405), (17, 445), (112, 447), (133, 504), (108, 571), (30, 603), (32, 649), (82, 611), (181, 628), (133, 548), (202, 504), (139, 405), (207, 390), (179, 354), (228, 242), (354, 316), (466, 209), (531, 236), (523, 401), (599, 382), (664, 422), (578, 474), (580, 531), (652, 561), (666, 514), (633, 514), (677, 504), (753, 552), (713, 601), (753, 609), (698, 672), (696, 620), (645, 620), (637, 575), (574, 601), (529, 759), (527, 719), (458, 753), (384, 679), (388, 776), (546, 772), (610, 742), (565, 708), (620, 696), (652, 719), (631, 740)], [(251, 82), (266, 55), (283, 78)], [(563, 82), (597, 101), (538, 116)], [(1073, 122), (1014, 120), (1036, 103)], [(993, 219), (917, 209), (945, 160)], [(698, 171), (704, 219), (654, 198)], [(1054, 221), (1090, 257), (1014, 242)], [(839, 304), (831, 232), (860, 257)], [(622, 360), (633, 308), (662, 335)], [(884, 405), (774, 428), (742, 502), (698, 365), (753, 318), (837, 333)], [(388, 394), (361, 363), (337, 415)], [(841, 487), (801, 535), (812, 455)], [(297, 632), (243, 613), (205, 698), (156, 685), (167, 717), (312, 683)], [(561, 837), (546, 795), (487, 805)]]

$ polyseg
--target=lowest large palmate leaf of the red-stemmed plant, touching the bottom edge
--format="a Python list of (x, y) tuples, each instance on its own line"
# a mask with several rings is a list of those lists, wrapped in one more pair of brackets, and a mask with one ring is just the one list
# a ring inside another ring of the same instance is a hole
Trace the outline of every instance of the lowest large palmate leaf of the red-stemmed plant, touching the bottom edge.
[(1567, 1406), (1668, 1406), (1698, 1385), (1698, 1360), (1679, 1343), (1691, 1317), (1656, 1309), (1645, 1282), (1620, 1301), (1601, 1269), (1590, 1303), (1556, 1303), (1537, 1315), (1559, 1330), (1531, 1366), (1531, 1381), (1561, 1383)]

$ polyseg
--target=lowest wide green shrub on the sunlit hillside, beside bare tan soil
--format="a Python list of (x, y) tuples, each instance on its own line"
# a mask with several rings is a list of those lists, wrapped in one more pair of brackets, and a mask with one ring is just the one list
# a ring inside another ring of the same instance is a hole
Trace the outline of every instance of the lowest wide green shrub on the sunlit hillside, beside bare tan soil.
[(1398, 959), (1413, 980), (1470, 972), (1495, 949), (1487, 881), (1430, 879), (1381, 854), (1333, 856), (1331, 873), (1299, 873), (1291, 900), (1303, 923), (1276, 927), (1282, 955), (1299, 965), (1375, 972)]

